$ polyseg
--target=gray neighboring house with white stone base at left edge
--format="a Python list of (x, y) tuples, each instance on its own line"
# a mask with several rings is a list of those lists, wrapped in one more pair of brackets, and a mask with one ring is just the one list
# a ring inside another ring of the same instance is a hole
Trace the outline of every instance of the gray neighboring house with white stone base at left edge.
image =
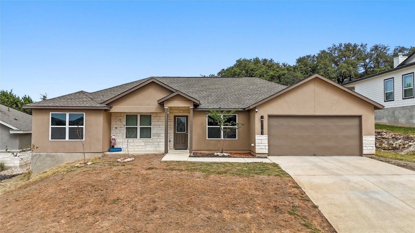
[[(32, 144), (32, 116), (0, 104), (0, 162), (6, 167), (25, 165), (30, 152), (22, 153), (20, 147), (29, 150), (26, 144)], [(6, 152), (6, 146), (24, 160)]]

